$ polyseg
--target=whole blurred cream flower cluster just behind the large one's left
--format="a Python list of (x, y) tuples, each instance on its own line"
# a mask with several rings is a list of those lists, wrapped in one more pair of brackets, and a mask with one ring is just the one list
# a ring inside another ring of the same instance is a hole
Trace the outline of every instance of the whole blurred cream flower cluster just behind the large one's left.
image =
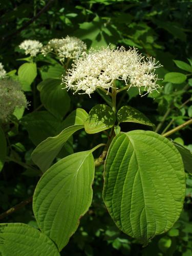
[(65, 58), (77, 59), (82, 52), (87, 50), (86, 44), (79, 38), (67, 36), (62, 39), (51, 39), (41, 50), (42, 55), (56, 53), (61, 61)]

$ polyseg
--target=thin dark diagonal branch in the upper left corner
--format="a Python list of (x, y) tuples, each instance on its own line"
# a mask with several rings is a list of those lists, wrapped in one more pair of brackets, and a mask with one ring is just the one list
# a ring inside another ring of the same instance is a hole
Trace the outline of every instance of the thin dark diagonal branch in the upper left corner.
[(5, 36), (2, 37), (2, 40), (6, 40), (11, 38), (12, 36), (15, 36), (16, 34), (20, 33), (22, 30), (26, 29), (29, 25), (31, 25), (38, 17), (40, 17), (40, 15), (42, 13), (44, 13), (45, 11), (48, 10), (48, 8), (50, 7), (50, 5), (54, 2), (55, 0), (50, 0), (46, 6), (44, 6), (44, 8), (42, 8), (37, 14), (36, 16), (32, 17), (28, 22), (26, 22), (26, 24), (24, 24), (22, 27), (20, 27), (19, 29), (17, 29), (15, 32), (7, 34)]

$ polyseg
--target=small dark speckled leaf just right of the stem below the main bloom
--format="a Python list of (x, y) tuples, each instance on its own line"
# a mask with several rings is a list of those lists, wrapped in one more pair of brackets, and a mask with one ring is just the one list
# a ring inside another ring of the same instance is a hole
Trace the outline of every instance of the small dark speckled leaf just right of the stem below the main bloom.
[(117, 112), (117, 121), (141, 123), (149, 126), (155, 126), (143, 113), (132, 108), (132, 106), (122, 106)]

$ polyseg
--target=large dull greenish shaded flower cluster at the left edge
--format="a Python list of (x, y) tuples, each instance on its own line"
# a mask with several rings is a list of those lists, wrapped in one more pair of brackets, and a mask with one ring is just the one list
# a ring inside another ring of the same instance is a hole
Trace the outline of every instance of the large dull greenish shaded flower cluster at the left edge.
[(9, 78), (0, 80), (0, 120), (6, 122), (15, 108), (26, 108), (27, 99), (20, 84)]

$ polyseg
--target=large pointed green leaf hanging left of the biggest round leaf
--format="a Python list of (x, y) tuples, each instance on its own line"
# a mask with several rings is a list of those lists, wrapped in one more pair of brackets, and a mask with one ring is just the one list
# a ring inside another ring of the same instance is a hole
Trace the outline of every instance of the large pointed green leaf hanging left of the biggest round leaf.
[(91, 205), (94, 168), (92, 150), (75, 153), (51, 166), (35, 188), (35, 219), (59, 251)]

